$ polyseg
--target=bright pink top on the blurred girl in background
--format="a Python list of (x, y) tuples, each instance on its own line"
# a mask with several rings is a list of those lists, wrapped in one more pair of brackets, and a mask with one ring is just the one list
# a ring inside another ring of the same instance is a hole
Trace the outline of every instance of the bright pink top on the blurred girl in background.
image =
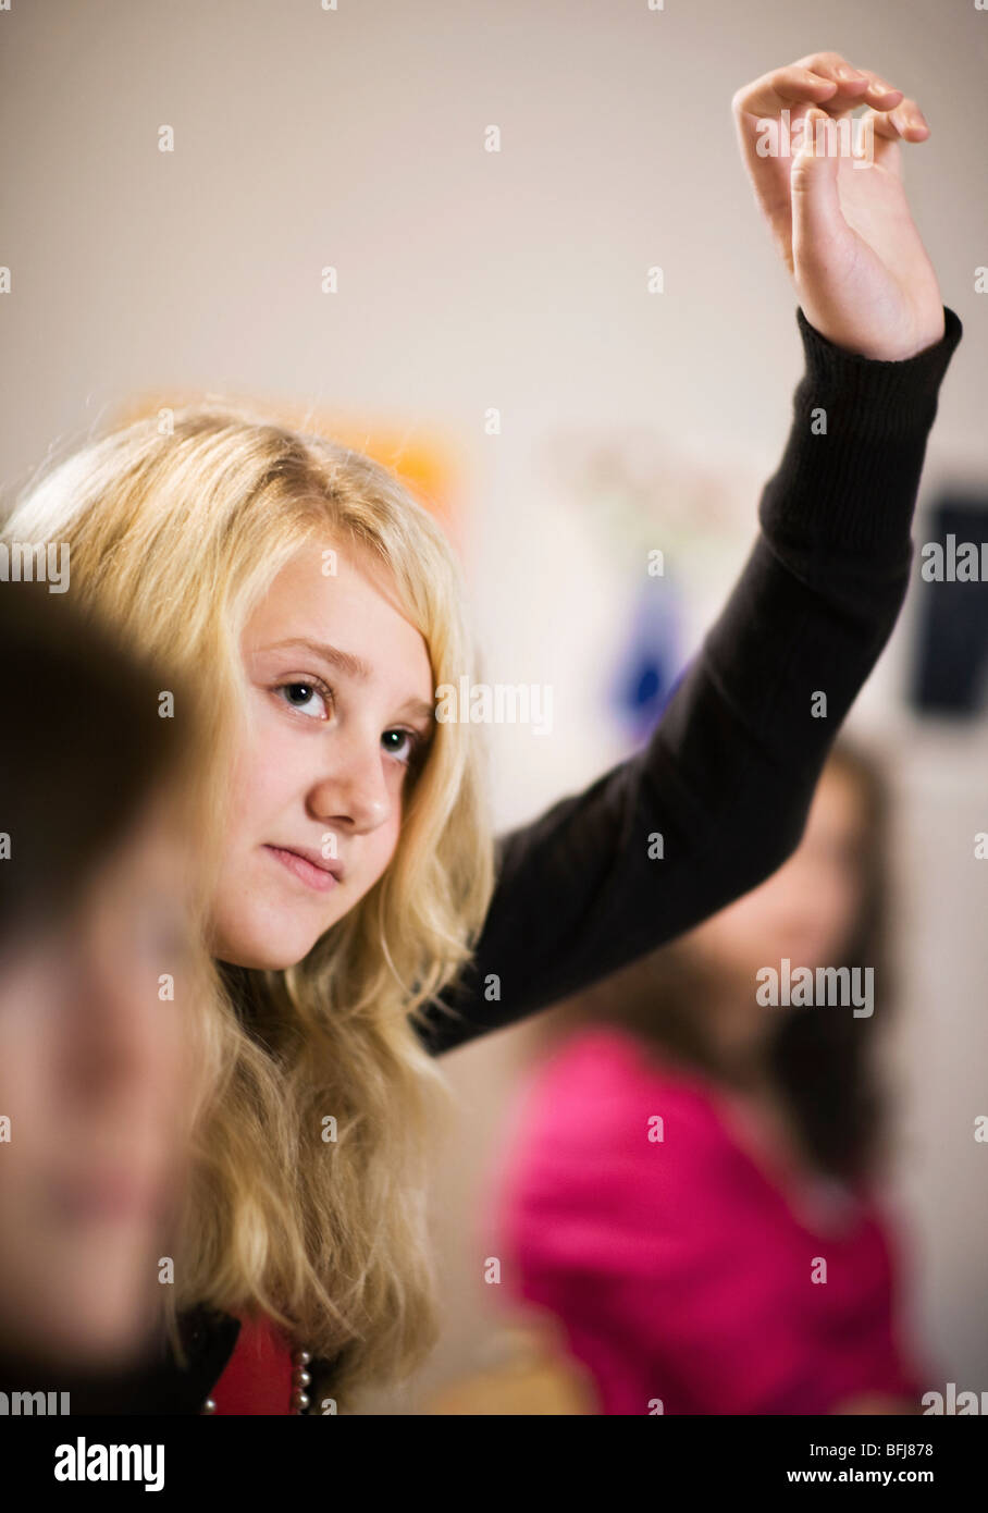
[(504, 1280), (561, 1321), (601, 1413), (918, 1404), (875, 1197), (808, 1186), (766, 1139), (726, 1091), (613, 1026), (536, 1074), (495, 1198)]

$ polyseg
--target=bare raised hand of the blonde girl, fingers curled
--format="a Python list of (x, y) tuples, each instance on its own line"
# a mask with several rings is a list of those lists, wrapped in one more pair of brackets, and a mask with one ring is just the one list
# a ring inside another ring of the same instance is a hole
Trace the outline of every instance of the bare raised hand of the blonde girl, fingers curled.
[[(865, 153), (855, 159), (847, 133), (862, 104)], [(755, 195), (811, 325), (871, 359), (903, 360), (941, 340), (940, 286), (902, 183), (899, 144), (929, 136), (915, 101), (840, 53), (811, 53), (744, 85), (732, 109)], [(769, 121), (782, 151), (766, 151)]]

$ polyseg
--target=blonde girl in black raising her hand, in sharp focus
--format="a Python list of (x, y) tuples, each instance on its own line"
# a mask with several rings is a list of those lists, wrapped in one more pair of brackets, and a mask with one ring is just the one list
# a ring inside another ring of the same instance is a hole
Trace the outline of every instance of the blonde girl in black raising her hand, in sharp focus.
[[(755, 148), (764, 117), (861, 103), (873, 169), (812, 142), (793, 162)], [(89, 442), (6, 525), (8, 542), (67, 543), (71, 593), (207, 705), (218, 1074), (176, 1274), (185, 1333), (151, 1404), (304, 1410), (312, 1356), (315, 1410), (333, 1412), (409, 1372), (436, 1337), (430, 1053), (655, 949), (799, 840), (905, 593), (961, 328), (902, 191), (899, 141), (927, 132), (900, 91), (822, 53), (734, 104), (800, 301), (793, 431), (750, 558), (652, 738), (534, 825), (495, 843), (477, 725), (436, 719), (442, 685), (478, 675), (460, 570), (359, 452), (194, 405)], [(213, 1395), (224, 1368), (238, 1407)], [(263, 1407), (272, 1384), (283, 1406)]]

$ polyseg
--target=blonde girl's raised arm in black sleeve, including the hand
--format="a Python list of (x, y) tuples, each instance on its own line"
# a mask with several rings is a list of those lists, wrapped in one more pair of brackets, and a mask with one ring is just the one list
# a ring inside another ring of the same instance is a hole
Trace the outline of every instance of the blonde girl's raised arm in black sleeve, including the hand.
[[(826, 126), (861, 103), (884, 110), (864, 118), (873, 159), (855, 165)], [(477, 952), (425, 1014), (436, 1053), (589, 986), (775, 871), (905, 596), (926, 439), (961, 339), (900, 179), (897, 138), (929, 129), (834, 53), (766, 74), (734, 110), (805, 351), (761, 533), (648, 744), (498, 841)], [(800, 120), (822, 123), (812, 139)], [(772, 123), (779, 153), (800, 139), (794, 157), (773, 154)]]

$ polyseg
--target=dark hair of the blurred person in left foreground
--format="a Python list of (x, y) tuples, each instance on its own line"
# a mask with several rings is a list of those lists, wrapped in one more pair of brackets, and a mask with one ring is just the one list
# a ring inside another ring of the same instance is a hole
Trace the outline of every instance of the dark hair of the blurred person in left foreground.
[(67, 595), (0, 589), (0, 937), (57, 917), (180, 770), (186, 744), (159, 719), (160, 687)]

